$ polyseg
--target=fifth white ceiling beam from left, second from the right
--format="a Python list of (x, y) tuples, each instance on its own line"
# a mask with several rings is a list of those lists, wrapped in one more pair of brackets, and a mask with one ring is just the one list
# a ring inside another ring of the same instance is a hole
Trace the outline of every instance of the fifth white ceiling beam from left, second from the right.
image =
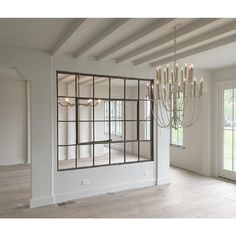
[[(183, 41), (176, 45), (176, 50), (181, 50), (187, 47), (191, 47), (194, 44), (202, 43), (207, 40), (212, 40), (216, 37), (222, 36), (224, 34), (230, 33), (236, 30), (236, 21), (229, 23), (224, 26), (220, 26), (217, 29), (211, 30), (207, 33), (202, 33), (196, 37), (192, 37), (186, 41)], [(152, 53), (145, 57), (139, 58), (133, 61), (134, 65), (140, 65), (149, 61), (153, 61), (154, 59), (166, 56), (173, 52), (173, 46), (160, 50), (158, 52)]]

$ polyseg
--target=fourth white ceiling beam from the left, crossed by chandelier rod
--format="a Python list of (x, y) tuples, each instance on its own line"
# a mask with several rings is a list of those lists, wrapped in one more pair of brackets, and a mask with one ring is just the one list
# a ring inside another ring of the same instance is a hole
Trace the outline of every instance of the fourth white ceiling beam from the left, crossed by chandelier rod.
[[(186, 35), (186, 34), (189, 34), (193, 31), (196, 31), (204, 26), (214, 23), (217, 20), (219, 20), (219, 19), (199, 19), (199, 20), (193, 22), (192, 24), (190, 24), (182, 29), (179, 29), (178, 30), (178, 37), (181, 37), (183, 35)], [(127, 54), (124, 54), (121, 57), (116, 58), (115, 61), (116, 61), (116, 63), (127, 61), (132, 57), (138, 56), (138, 55), (145, 53), (149, 50), (160, 47), (161, 45), (168, 43), (172, 40), (174, 40), (174, 34), (170, 33), (168, 35), (161, 37), (160, 39), (154, 40), (151, 43), (148, 43), (140, 48), (137, 48), (134, 51), (131, 51)]]

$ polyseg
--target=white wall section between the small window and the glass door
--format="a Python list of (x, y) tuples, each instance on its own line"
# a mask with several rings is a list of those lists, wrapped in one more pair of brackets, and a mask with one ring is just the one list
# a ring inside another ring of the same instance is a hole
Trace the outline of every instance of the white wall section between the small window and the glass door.
[(212, 73), (196, 70), (195, 75), (204, 78), (200, 117), (195, 125), (184, 129), (184, 149), (170, 146), (170, 163), (203, 175), (211, 175)]

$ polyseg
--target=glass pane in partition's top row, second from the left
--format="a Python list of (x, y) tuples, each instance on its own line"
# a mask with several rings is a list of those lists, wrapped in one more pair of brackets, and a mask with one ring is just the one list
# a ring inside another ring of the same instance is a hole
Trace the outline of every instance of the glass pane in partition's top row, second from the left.
[(78, 97), (93, 97), (93, 77), (81, 75), (78, 79)]

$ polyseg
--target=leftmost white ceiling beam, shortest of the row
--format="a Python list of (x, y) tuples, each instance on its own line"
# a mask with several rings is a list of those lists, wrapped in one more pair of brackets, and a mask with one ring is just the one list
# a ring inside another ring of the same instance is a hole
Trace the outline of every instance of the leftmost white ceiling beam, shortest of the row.
[(76, 19), (71, 27), (63, 34), (59, 41), (55, 44), (52, 49), (52, 56), (59, 55), (63, 53), (63, 49), (68, 41), (70, 41), (77, 33), (80, 26), (85, 22), (86, 19), (80, 18)]

